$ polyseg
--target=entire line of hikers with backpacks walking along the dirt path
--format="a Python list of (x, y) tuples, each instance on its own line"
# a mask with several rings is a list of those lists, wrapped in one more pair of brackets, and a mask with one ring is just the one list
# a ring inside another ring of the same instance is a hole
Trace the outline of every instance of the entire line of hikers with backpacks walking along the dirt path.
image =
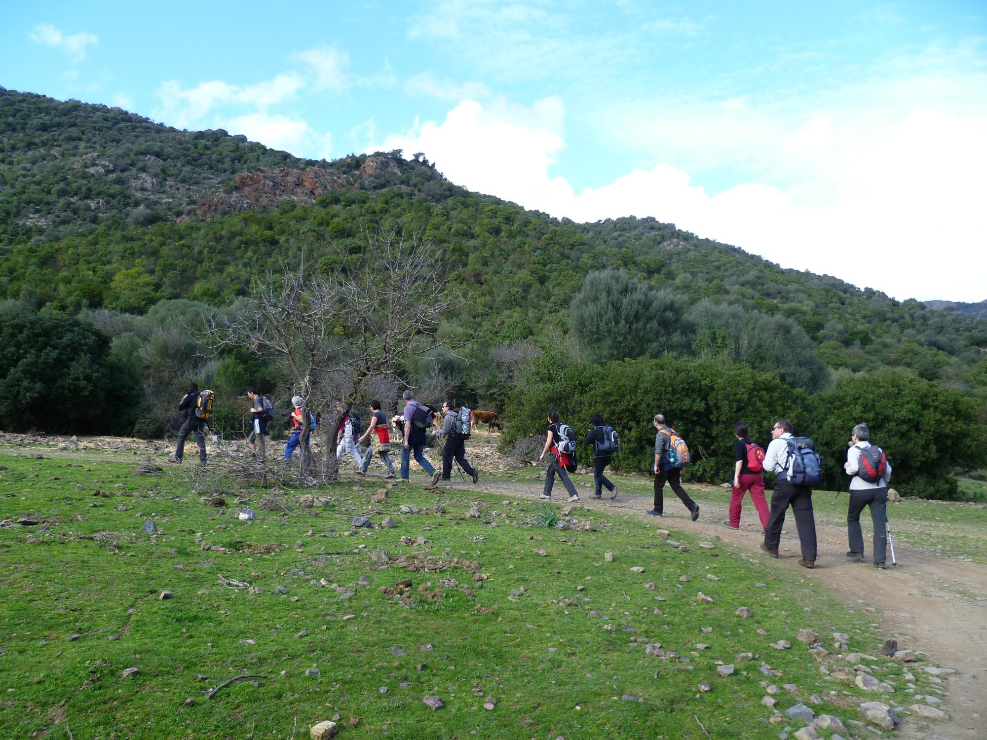
[[(273, 420), (274, 408), (270, 400), (259, 395), (255, 389), (249, 389), (247, 394), (252, 404), (252, 430), (248, 442), (255, 457), (260, 452), (258, 459), (263, 460), (266, 457), (267, 427)], [(424, 456), (427, 430), (433, 426), (434, 411), (431, 407), (420, 404), (412, 391), (405, 391), (401, 402), (404, 403), (404, 411), (401, 415), (403, 425), (399, 473), (401, 480), (410, 480), (411, 459), (414, 457), (422, 470), (431, 477), (433, 485), (451, 481), (454, 463), (458, 464), (463, 473), (476, 483), (480, 474), (466, 459), (465, 448), (472, 427), (470, 409), (457, 406), (453, 399), (442, 404), (440, 411), (442, 423), (435, 436), (444, 440), (444, 444), (442, 468), (441, 471), (437, 471)], [(286, 462), (291, 460), (295, 449), (301, 446), (304, 438), (301, 457), (303, 465), (308, 470), (311, 460), (308, 440), (311, 435), (305, 435), (303, 432), (306, 424), (310, 432), (314, 431), (318, 419), (311, 410), (304, 410), (303, 404), (304, 400), (299, 396), (291, 399), (292, 430), (284, 448), (284, 460)], [(175, 462), (182, 463), (186, 439), (190, 434), (194, 434), (199, 450), (199, 465), (204, 466), (206, 464), (204, 425), (212, 410), (212, 392), (199, 391), (194, 382), (190, 383), (189, 392), (183, 397), (179, 409), (184, 413), (184, 419), (175, 449)], [(371, 459), (377, 455), (387, 471), (385, 478), (396, 478), (390, 456), (391, 424), (381, 410), (380, 402), (377, 400), (370, 402), (370, 423), (365, 431), (362, 430), (355, 409), (346, 410), (339, 405), (337, 410), (342, 413), (336, 434), (337, 458), (342, 462), (344, 455), (351, 457), (355, 473), (365, 476)], [(552, 497), (552, 489), (558, 477), (568, 493), (567, 500), (578, 501), (579, 494), (569, 478), (569, 473), (575, 472), (577, 467), (575, 433), (569, 424), (562, 421), (557, 410), (550, 410), (547, 420), (548, 429), (539, 460), (544, 462), (546, 455), (549, 459), (545, 484), (539, 497), (542, 499)], [(665, 483), (668, 483), (695, 522), (699, 519), (699, 504), (689, 496), (682, 487), (681, 481), (682, 471), (691, 462), (688, 445), (675, 429), (666, 423), (663, 414), (655, 414), (651, 422), (655, 429), (654, 463), (651, 468), (654, 475), (654, 498), (652, 507), (646, 513), (659, 517), (664, 515), (663, 491)], [(806, 568), (814, 568), (816, 534), (815, 516), (812, 511), (812, 488), (820, 480), (820, 461), (814, 443), (808, 437), (794, 436), (792, 422), (788, 419), (780, 419), (772, 426), (772, 439), (767, 449), (753, 441), (750, 428), (744, 421), (738, 421), (734, 425), (733, 434), (736, 440), (733, 442), (733, 481), (727, 509), (729, 518), (723, 522), (723, 525), (733, 530), (740, 528), (741, 504), (744, 495), (749, 492), (764, 535), (761, 550), (772, 557), (778, 557), (782, 528), (791, 507), (801, 546), (801, 558), (798, 563)], [(870, 436), (871, 432), (866, 424), (857, 424), (853, 428), (851, 440), (848, 442), (847, 460), (843, 466), (846, 474), (851, 477), (850, 504), (847, 513), (850, 551), (847, 556), (852, 560), (865, 559), (860, 516), (864, 508), (869, 507), (873, 520), (873, 564), (883, 568), (887, 543), (887, 483), (891, 477), (891, 465), (887, 462), (883, 450), (871, 444)], [(609, 491), (611, 499), (616, 498), (620, 488), (608, 480), (604, 472), (620, 446), (617, 430), (604, 422), (602, 414), (594, 413), (583, 442), (591, 445), (593, 449), (592, 468), (595, 486), (592, 498), (601, 498), (604, 488)], [(776, 476), (770, 508), (765, 499), (765, 472)]]

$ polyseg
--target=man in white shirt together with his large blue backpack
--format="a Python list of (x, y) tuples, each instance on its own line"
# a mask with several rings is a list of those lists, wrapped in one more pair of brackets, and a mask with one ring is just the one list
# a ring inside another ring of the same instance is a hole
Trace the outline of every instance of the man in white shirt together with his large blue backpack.
[(801, 543), (802, 567), (814, 568), (816, 555), (815, 514), (812, 512), (812, 486), (819, 484), (819, 456), (808, 437), (793, 437), (792, 422), (776, 421), (771, 428), (771, 444), (764, 453), (764, 470), (778, 474), (771, 494), (771, 513), (761, 550), (778, 557), (785, 514), (792, 507)]

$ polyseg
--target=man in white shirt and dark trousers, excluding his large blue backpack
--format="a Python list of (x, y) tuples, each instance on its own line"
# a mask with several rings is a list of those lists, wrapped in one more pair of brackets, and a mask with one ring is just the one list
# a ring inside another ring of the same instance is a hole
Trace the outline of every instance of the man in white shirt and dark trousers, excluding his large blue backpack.
[(792, 506), (796, 518), (798, 540), (801, 542), (801, 559), (798, 564), (815, 567), (815, 515), (812, 513), (812, 489), (805, 485), (789, 482), (789, 440), (792, 438), (792, 422), (788, 419), (776, 421), (771, 429), (771, 444), (764, 453), (764, 470), (778, 475), (775, 489), (771, 493), (771, 514), (765, 531), (761, 550), (772, 557), (778, 557), (778, 546), (782, 540), (782, 527), (785, 514)]

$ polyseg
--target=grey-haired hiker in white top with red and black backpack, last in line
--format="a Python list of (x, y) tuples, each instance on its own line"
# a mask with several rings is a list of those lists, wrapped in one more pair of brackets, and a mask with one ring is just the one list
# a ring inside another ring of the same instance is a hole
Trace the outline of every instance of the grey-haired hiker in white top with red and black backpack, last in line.
[[(850, 481), (850, 508), (847, 511), (847, 535), (850, 552), (847, 557), (864, 561), (864, 535), (861, 533), (861, 512), (871, 507), (873, 521), (873, 564), (884, 568), (887, 555), (887, 483), (891, 480), (891, 464), (884, 451), (871, 444), (867, 424), (857, 424), (851, 434), (847, 462), (843, 470)], [(892, 558), (893, 559), (893, 558)]]

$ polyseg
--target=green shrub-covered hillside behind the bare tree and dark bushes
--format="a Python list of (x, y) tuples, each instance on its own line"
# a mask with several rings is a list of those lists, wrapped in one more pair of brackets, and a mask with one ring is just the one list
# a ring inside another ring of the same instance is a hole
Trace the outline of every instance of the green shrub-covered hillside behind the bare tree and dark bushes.
[[(400, 368), (429, 401), (454, 394), (503, 409), (546, 351), (596, 364), (671, 352), (749, 366), (809, 395), (851, 374), (898, 373), (955, 392), (977, 427), (987, 417), (987, 321), (974, 316), (785, 269), (653, 218), (554, 219), (452, 185), (400, 152), (316, 163), (223, 131), (0, 90), (2, 310), (77, 316), (109, 335), (108, 361), (144, 387), (115, 431), (162, 433), (189, 376), (226, 401), (247, 383), (286, 397), (294, 379), (243, 353), (202, 359), (186, 327), (285, 264), (372, 270), (367, 235), (393, 229), (440, 251), (465, 301), (442, 331), (466, 348)], [(668, 398), (654, 389), (645, 431)], [(881, 400), (864, 398), (848, 418), (880, 415)], [(24, 425), (4, 408), (0, 423)], [(238, 417), (217, 423), (235, 431)]]

